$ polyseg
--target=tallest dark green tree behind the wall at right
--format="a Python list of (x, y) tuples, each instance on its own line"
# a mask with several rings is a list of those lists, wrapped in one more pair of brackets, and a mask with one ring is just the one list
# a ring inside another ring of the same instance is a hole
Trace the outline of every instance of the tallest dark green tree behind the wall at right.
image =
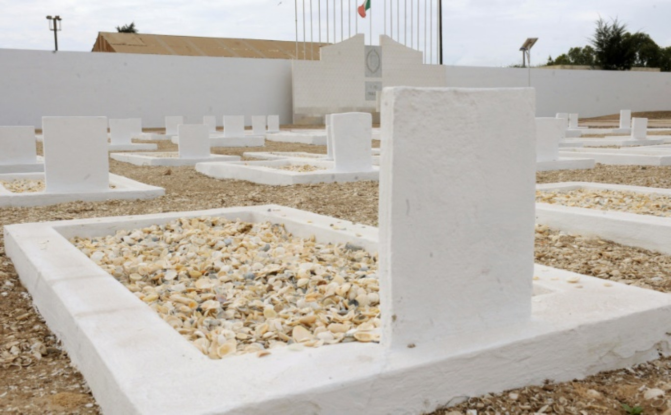
[(596, 63), (606, 70), (627, 71), (636, 62), (634, 36), (629, 36), (627, 25), (621, 24), (617, 18), (607, 23), (604, 19), (597, 20), (597, 29), (590, 43), (594, 46)]

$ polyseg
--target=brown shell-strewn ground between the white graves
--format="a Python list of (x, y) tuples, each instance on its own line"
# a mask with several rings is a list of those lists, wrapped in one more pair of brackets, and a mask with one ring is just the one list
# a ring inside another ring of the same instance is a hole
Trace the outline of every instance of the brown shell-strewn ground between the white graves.
[[(176, 146), (168, 142), (157, 144), (159, 151), (176, 150)], [(319, 146), (266, 144), (268, 146), (264, 148), (231, 148), (215, 152), (238, 155), (244, 151), (260, 150), (325, 152), (325, 148)], [(378, 146), (379, 143), (373, 145)], [(264, 203), (287, 205), (373, 226), (377, 224), (378, 184), (375, 182), (270, 187), (244, 181), (210, 179), (195, 172), (192, 167), (138, 167), (115, 160), (110, 160), (110, 170), (164, 187), (166, 195), (154, 200), (4, 208), (0, 210), (0, 225)], [(671, 187), (671, 167), (597, 165), (596, 169), (588, 171), (539, 173), (537, 181), (597, 181)], [(535, 248), (538, 263), (671, 292), (671, 257), (666, 255), (544, 227), (537, 228)], [(57, 338), (32, 307), (28, 291), (19, 282), (11, 261), (5, 255), (3, 242), (0, 244), (0, 298), (0, 412), (99, 413), (83, 377), (71, 366)], [(661, 398), (645, 399), (646, 394), (663, 395)], [(640, 405), (645, 414), (670, 415), (666, 402), (670, 395), (671, 359), (660, 359), (633, 369), (600, 373), (582, 381), (548, 383), (471, 398), (435, 414), (625, 414), (622, 404), (627, 404), (632, 407)]]

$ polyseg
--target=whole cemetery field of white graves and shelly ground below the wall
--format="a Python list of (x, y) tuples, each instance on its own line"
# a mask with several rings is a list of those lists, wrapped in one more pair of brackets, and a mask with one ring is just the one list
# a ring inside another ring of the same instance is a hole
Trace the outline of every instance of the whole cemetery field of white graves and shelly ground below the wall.
[(0, 127), (6, 410), (668, 410), (671, 128), (381, 107)]

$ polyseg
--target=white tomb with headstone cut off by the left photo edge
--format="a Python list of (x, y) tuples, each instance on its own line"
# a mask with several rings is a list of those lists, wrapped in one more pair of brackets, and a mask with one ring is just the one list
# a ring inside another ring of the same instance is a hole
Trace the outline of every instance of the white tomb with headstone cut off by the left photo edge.
[(0, 126), (0, 173), (44, 171), (44, 159), (37, 155), (35, 128)]

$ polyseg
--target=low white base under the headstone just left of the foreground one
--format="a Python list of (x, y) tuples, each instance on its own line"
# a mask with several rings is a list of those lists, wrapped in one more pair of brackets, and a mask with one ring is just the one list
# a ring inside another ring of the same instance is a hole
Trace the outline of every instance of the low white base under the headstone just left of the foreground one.
[[(324, 167), (327, 170), (319, 170), (309, 173), (297, 171), (279, 170), (278, 167), (289, 165), (311, 165)], [(370, 171), (355, 173), (343, 173), (333, 171), (333, 162), (320, 160), (262, 160), (262, 161), (240, 161), (234, 163), (198, 163), (196, 171), (215, 179), (236, 179), (252, 181), (262, 185), (290, 186), (305, 183), (334, 183), (348, 181), (378, 181), (380, 169), (371, 167)]]

